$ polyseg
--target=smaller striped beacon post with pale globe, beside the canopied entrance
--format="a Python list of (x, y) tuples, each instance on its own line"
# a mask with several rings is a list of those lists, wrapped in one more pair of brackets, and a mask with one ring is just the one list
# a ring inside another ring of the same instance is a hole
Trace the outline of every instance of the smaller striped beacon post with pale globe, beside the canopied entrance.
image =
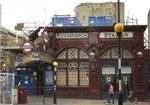
[(57, 67), (58, 67), (58, 62), (54, 61), (53, 62), (54, 66), (54, 74), (53, 74), (53, 104), (57, 104), (57, 94), (56, 94), (56, 88), (57, 88), (57, 78), (56, 78), (56, 73), (57, 73)]

